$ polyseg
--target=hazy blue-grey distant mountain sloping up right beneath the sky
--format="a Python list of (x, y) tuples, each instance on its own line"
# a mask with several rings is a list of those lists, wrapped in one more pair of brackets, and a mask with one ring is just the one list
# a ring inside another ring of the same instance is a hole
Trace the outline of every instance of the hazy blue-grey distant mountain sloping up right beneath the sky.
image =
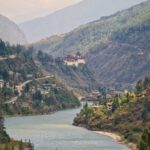
[(81, 24), (129, 8), (142, 1), (144, 0), (116, 0), (114, 5), (112, 0), (82, 0), (76, 5), (58, 10), (46, 17), (22, 23), (20, 28), (28, 41), (33, 42), (50, 35), (69, 32)]

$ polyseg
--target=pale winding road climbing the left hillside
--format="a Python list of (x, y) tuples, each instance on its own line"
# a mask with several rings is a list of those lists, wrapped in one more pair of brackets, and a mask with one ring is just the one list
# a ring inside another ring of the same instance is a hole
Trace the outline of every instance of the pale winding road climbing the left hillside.
[[(43, 79), (48, 79), (48, 78), (53, 78), (54, 77), (54, 75), (47, 75), (47, 76), (45, 76), (45, 77), (41, 77), (41, 78), (37, 78), (37, 79), (35, 79), (36, 81), (39, 81), (39, 80), (43, 80)], [(27, 81), (25, 81), (25, 82), (23, 82), (22, 84), (20, 84), (19, 85), (19, 89), (22, 89), (23, 87), (25, 87), (28, 83), (30, 83), (31, 81), (33, 81), (33, 80), (27, 80)], [(19, 96), (21, 96), (21, 91), (20, 91), (20, 94), (19, 94)], [(18, 96), (15, 96), (15, 97), (13, 97), (13, 98), (11, 98), (10, 100), (8, 100), (8, 101), (6, 101), (4, 104), (14, 104), (16, 101), (17, 101), (17, 99), (18, 99)]]

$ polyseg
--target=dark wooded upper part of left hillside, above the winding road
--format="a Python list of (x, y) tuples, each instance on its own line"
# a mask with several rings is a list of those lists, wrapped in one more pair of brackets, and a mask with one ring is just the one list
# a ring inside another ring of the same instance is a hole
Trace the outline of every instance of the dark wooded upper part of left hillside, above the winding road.
[(0, 40), (0, 79), (20, 82), (40, 74), (40, 70), (33, 60), (33, 48), (24, 46), (10, 46)]

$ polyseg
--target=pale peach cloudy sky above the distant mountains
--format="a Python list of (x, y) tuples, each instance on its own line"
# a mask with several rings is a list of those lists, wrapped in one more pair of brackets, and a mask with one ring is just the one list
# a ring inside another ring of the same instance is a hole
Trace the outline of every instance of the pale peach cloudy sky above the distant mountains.
[(0, 0), (0, 14), (16, 23), (53, 13), (81, 0)]

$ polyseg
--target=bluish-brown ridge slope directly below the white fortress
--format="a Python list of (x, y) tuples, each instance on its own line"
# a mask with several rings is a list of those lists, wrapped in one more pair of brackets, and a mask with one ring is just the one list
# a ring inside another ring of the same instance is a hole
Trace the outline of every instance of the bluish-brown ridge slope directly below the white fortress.
[(41, 67), (50, 74), (55, 74), (57, 78), (70, 88), (96, 88), (100, 81), (97, 80), (86, 64), (76, 66), (67, 66), (59, 58), (53, 58), (51, 55), (39, 51), (37, 61)]

